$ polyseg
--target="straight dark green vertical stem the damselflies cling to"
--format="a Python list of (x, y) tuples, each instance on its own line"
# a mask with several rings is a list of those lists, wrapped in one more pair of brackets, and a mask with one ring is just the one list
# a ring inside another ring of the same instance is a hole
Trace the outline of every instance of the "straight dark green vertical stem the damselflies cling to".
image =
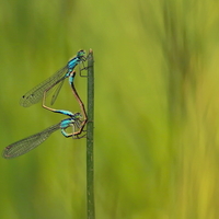
[(87, 208), (88, 219), (95, 219), (94, 169), (93, 169), (93, 124), (94, 124), (94, 68), (93, 51), (88, 56), (88, 125), (87, 125)]

